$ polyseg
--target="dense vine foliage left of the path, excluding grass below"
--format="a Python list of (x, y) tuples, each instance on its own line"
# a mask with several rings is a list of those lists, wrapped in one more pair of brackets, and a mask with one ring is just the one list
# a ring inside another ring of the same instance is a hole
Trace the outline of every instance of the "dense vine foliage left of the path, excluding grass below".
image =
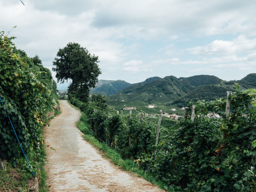
[(40, 161), (42, 127), (52, 110), (54, 93), (50, 71), (40, 64), (35, 66), (24, 51), (16, 49), (12, 39), (0, 32), (0, 97), (4, 103), (0, 105), (0, 150), (15, 166), (20, 149), (6, 111), (24, 152), (33, 152)]

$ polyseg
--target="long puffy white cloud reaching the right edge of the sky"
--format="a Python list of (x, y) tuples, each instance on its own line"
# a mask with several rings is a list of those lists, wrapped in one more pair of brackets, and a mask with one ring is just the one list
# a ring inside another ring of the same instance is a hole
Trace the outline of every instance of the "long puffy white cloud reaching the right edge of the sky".
[(233, 54), (237, 51), (255, 51), (256, 38), (248, 39), (244, 35), (239, 35), (232, 41), (215, 40), (207, 46), (198, 46), (187, 49), (190, 54)]

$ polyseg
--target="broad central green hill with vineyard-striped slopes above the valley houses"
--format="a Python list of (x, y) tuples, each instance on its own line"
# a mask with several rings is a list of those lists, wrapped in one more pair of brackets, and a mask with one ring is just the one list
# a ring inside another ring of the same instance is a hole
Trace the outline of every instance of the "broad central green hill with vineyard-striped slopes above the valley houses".
[(151, 82), (132, 84), (108, 98), (120, 101), (140, 101), (148, 104), (165, 104), (185, 96), (198, 86), (219, 84), (220, 82), (221, 79), (212, 75), (181, 78), (166, 76)]

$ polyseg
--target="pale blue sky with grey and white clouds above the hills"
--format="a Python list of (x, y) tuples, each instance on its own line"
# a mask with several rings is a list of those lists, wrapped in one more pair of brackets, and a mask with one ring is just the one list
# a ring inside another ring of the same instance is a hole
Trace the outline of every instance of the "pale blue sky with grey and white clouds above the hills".
[(22, 1), (0, 0), (0, 31), (17, 26), (8, 37), (50, 70), (77, 42), (99, 56), (103, 80), (256, 73), (256, 1)]

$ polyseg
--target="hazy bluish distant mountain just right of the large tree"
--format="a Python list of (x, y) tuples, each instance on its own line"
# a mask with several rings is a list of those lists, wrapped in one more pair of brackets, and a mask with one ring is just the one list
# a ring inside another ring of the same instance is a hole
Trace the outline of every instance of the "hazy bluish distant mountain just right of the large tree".
[(131, 83), (127, 83), (126, 81), (122, 80), (99, 80), (96, 84), (97, 87), (92, 88), (90, 90), (90, 93), (93, 93), (95, 95), (101, 94), (101, 95), (114, 95), (116, 94), (120, 89), (125, 88), (126, 86), (131, 85)]

